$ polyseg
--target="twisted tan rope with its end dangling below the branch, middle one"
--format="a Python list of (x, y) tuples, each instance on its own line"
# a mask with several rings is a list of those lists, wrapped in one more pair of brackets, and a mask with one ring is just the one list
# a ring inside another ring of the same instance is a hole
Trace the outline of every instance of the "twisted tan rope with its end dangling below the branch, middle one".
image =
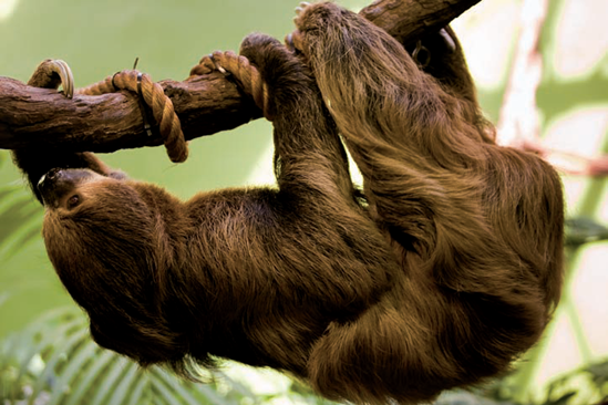
[[(91, 84), (83, 89), (78, 89), (76, 94), (101, 95), (114, 93), (120, 90), (127, 90), (141, 95), (147, 106), (151, 107), (154, 120), (158, 123), (158, 132), (163, 137), (163, 143), (172, 162), (181, 163), (188, 157), (188, 145), (182, 132), (182, 124), (175, 113), (173, 103), (165, 95), (163, 87), (152, 81), (148, 74), (136, 70), (124, 70), (107, 76), (105, 80)], [(142, 106), (144, 107), (144, 106)], [(144, 125), (152, 134), (145, 111), (142, 111)]]

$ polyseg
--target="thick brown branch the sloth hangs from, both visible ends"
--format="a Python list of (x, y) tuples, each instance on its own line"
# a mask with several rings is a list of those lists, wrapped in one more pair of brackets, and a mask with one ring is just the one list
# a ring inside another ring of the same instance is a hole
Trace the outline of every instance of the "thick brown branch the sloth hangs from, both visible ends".
[[(477, 2), (380, 0), (361, 14), (408, 44), (449, 24)], [(231, 129), (261, 116), (255, 104), (219, 73), (159, 84), (172, 100), (187, 139)], [(61, 147), (107, 153), (162, 144), (158, 135), (145, 134), (134, 94), (74, 95), (69, 100), (52, 90), (0, 77), (0, 148)]]

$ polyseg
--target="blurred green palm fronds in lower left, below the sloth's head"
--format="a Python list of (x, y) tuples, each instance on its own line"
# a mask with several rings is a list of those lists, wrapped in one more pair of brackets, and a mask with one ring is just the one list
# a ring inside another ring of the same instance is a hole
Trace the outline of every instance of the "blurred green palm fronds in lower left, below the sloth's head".
[(255, 404), (245, 386), (217, 372), (208, 384), (184, 382), (161, 367), (97, 346), (75, 308), (45, 313), (0, 345), (0, 403), (76, 405)]

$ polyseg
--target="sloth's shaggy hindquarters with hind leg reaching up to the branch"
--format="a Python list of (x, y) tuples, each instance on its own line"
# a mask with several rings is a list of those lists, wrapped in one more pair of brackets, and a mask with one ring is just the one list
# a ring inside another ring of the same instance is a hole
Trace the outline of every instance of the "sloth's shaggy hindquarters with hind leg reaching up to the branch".
[(411, 402), (504, 371), (559, 299), (558, 176), (494, 144), (460, 51), (452, 71), (430, 66), (437, 81), (336, 4), (309, 7), (296, 24), (402, 269), (378, 304), (317, 342), (313, 385), (333, 398)]

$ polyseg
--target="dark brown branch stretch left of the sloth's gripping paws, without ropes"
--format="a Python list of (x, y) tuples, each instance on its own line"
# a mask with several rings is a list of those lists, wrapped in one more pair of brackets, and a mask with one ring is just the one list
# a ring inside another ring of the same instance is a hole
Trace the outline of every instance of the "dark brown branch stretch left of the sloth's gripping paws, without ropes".
[[(220, 73), (184, 82), (159, 82), (171, 97), (187, 139), (231, 129), (261, 116), (260, 111)], [(144, 133), (137, 97), (128, 92), (72, 100), (54, 90), (0, 77), (0, 148), (62, 147), (114, 152), (157, 146)]]

